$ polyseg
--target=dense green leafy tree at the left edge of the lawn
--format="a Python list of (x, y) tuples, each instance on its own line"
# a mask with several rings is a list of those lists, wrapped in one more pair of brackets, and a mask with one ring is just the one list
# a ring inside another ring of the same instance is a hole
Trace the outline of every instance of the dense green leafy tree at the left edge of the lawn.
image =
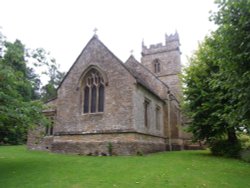
[(26, 140), (28, 127), (47, 124), (42, 104), (35, 99), (33, 81), (38, 77), (26, 66), (21, 41), (4, 42), (0, 58), (0, 143), (20, 144)]

